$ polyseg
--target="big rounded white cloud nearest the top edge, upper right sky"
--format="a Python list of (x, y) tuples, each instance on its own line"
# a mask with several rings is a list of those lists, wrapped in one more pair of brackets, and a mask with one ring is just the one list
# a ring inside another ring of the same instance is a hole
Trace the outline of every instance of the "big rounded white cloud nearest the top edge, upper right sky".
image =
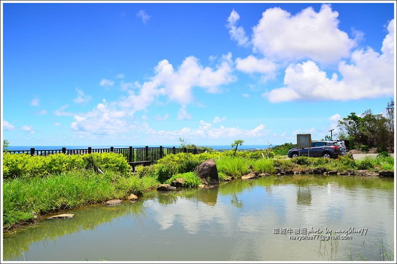
[(336, 62), (355, 45), (338, 28), (338, 15), (329, 4), (323, 4), (318, 13), (308, 7), (296, 15), (279, 7), (266, 9), (253, 28), (254, 51), (279, 59)]

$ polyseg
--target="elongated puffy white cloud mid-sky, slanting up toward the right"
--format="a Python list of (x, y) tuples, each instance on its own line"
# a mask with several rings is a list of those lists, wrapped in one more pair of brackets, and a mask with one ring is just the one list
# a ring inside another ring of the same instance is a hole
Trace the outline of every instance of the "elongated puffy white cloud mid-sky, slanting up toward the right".
[(172, 101), (188, 104), (193, 101), (193, 87), (201, 87), (208, 93), (220, 92), (219, 86), (235, 80), (231, 74), (232, 54), (223, 55), (215, 68), (204, 67), (195, 56), (184, 59), (177, 70), (168, 60), (161, 60), (154, 68), (155, 75), (144, 82), (140, 90), (129, 90), (129, 96), (122, 98), (120, 106), (132, 111), (142, 110), (152, 104), (160, 95), (166, 95)]

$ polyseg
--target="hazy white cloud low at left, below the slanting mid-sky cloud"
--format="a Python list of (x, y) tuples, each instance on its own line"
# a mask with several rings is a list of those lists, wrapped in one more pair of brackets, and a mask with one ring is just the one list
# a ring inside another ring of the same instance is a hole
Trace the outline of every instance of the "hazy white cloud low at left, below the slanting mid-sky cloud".
[(127, 132), (130, 125), (126, 111), (115, 109), (115, 104), (108, 104), (106, 100), (85, 114), (75, 114), (71, 128), (81, 133), (108, 135)]

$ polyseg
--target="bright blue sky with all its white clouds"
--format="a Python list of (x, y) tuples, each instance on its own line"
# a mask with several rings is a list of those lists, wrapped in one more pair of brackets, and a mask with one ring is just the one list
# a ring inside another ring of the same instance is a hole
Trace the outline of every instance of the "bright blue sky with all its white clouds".
[[(3, 138), (321, 139), (394, 97), (393, 3), (4, 3)], [(337, 128), (336, 128), (337, 129)]]

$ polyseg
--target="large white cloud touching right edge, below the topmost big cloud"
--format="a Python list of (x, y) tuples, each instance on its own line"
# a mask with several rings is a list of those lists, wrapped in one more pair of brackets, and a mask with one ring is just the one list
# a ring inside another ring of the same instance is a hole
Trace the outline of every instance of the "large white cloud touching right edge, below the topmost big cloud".
[(382, 54), (371, 48), (351, 54), (350, 63), (342, 61), (331, 78), (311, 60), (291, 64), (285, 70), (285, 87), (265, 93), (273, 103), (292, 100), (355, 100), (394, 94), (394, 20), (388, 26)]

